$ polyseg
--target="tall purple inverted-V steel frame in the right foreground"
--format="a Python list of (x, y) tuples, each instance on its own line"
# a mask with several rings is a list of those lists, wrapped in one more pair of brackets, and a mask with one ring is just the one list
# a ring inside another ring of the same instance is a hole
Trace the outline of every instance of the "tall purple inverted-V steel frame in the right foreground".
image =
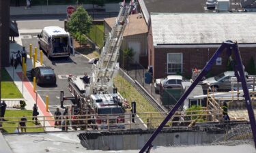
[[(145, 150), (147, 150), (147, 152), (150, 152), (150, 149), (152, 148), (152, 142), (154, 141), (154, 139), (156, 138), (158, 133), (160, 133), (162, 128), (165, 126), (165, 124), (175, 114), (175, 112), (182, 105), (182, 103), (184, 103), (184, 100), (186, 99), (186, 97), (188, 97), (190, 92), (201, 81), (201, 78), (203, 78), (203, 76), (205, 76), (206, 73), (208, 73), (208, 71), (210, 70), (212, 65), (214, 65), (218, 56), (223, 52), (223, 50), (227, 50), (227, 56), (231, 59), (231, 65), (233, 66), (233, 69), (235, 71), (235, 76), (238, 79), (238, 82), (241, 82), (241, 84), (242, 84), (242, 89), (244, 91), (244, 99), (245, 99), (245, 103), (246, 103), (246, 108), (248, 110), (248, 116), (249, 116), (249, 119), (250, 119), (251, 130), (252, 130), (252, 133), (253, 133), (253, 140), (254, 140), (255, 147), (256, 147), (255, 116), (254, 116), (254, 112), (253, 112), (251, 98), (250, 98), (250, 95), (249, 95), (249, 92), (248, 92), (248, 87), (246, 85), (246, 78), (245, 78), (245, 75), (244, 75), (244, 66), (242, 65), (242, 58), (241, 58), (240, 52), (238, 50), (238, 44), (233, 42), (233, 41), (225, 41), (225, 42), (223, 42), (221, 47), (218, 48), (218, 50), (216, 50), (216, 52), (214, 53), (214, 55), (212, 56), (212, 58), (210, 59), (208, 64), (205, 65), (205, 67), (201, 70), (201, 73), (199, 73), (198, 77), (195, 79), (193, 84), (191, 84), (191, 86), (188, 88), (188, 90), (186, 90), (186, 92), (184, 92), (182, 97), (180, 97), (179, 101), (177, 101), (176, 105), (173, 107), (173, 109), (171, 109), (171, 111), (169, 112), (169, 114), (167, 115), (165, 120), (163, 120), (162, 123), (160, 124), (160, 126), (158, 126), (158, 129), (156, 129), (156, 131), (154, 131), (152, 136), (147, 140), (147, 142), (145, 143), (143, 148), (141, 148), (140, 153), (145, 152)], [(233, 61), (231, 56), (234, 56), (234, 59), (236, 60), (236, 63)]]

